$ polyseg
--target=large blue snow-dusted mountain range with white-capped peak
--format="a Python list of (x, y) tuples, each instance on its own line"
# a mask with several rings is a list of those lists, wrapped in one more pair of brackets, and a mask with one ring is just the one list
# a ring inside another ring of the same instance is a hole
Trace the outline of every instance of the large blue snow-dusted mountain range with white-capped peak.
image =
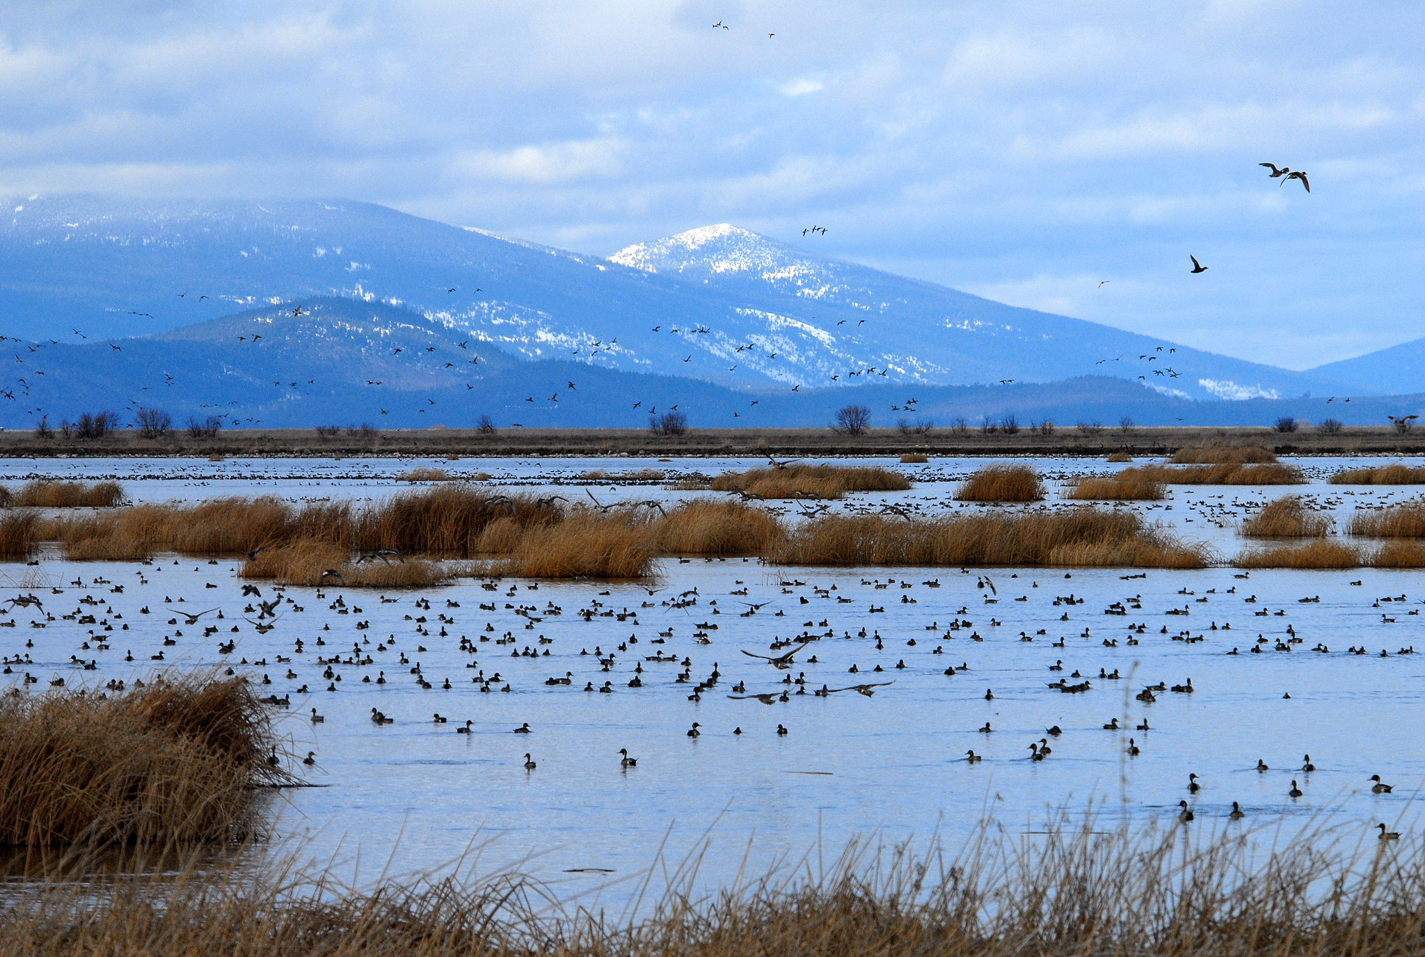
[(1164, 396), (1347, 387), (839, 262), (731, 225), (608, 260), (333, 201), (26, 197), (0, 221), (0, 331), (147, 335), (305, 297), (405, 305), (526, 359), (777, 394), (1110, 375)]

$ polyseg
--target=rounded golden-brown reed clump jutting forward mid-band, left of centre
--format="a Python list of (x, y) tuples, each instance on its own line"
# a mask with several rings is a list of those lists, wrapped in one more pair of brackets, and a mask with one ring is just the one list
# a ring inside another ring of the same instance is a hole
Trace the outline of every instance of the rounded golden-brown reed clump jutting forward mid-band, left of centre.
[(613, 578), (648, 575), (657, 553), (648, 523), (633, 515), (573, 513), (559, 525), (527, 528), (500, 575), (523, 578)]

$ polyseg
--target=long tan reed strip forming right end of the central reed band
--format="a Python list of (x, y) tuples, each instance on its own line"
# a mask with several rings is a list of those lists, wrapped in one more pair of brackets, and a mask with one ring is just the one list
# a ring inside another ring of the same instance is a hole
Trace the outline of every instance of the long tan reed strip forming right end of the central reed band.
[(936, 519), (828, 516), (789, 529), (781, 565), (1015, 565), (1206, 568), (1206, 546), (1149, 528), (1133, 512), (1076, 508)]

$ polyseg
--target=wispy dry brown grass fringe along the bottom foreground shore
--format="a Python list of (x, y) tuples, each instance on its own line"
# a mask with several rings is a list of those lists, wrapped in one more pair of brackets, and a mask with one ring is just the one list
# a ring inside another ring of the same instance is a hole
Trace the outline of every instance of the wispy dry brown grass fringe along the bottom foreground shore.
[[(1268, 823), (1270, 827), (1270, 823)], [(1203, 829), (1204, 836), (1197, 830)], [(551, 906), (487, 883), (178, 874), (38, 883), (0, 911), (4, 957), (1421, 957), (1414, 841), (1374, 830), (1271, 853), (1206, 822), (1062, 829), (926, 856), (851, 849), (825, 867), (711, 894), (673, 881), (648, 909)], [(1404, 846), (1399, 846), (1404, 844)], [(811, 856), (808, 856), (811, 859)], [(249, 869), (251, 870), (251, 869)], [(664, 871), (674, 870), (665, 867)], [(234, 869), (237, 871), (237, 869)]]

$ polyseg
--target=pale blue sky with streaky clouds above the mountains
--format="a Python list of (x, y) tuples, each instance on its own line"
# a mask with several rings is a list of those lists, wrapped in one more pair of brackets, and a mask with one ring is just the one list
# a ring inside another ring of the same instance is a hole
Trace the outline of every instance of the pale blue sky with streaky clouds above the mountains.
[(734, 222), (1298, 369), (1425, 335), (1422, 133), (1392, 0), (0, 6), (0, 194)]

